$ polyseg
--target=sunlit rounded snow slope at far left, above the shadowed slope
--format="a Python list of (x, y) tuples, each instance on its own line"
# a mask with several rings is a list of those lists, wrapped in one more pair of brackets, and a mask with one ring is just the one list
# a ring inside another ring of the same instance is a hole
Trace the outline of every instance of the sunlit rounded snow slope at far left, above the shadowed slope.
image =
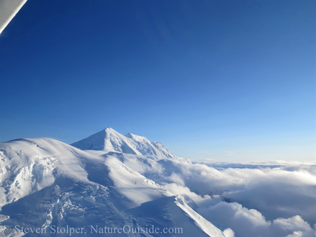
[(0, 207), (54, 183), (58, 174), (87, 181), (86, 154), (48, 139), (18, 139), (0, 146)]

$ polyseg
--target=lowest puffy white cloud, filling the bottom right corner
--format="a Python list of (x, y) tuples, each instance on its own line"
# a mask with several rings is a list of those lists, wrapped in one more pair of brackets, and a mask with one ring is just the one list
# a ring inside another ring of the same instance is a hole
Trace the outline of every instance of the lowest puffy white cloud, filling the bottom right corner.
[(198, 208), (197, 211), (211, 222), (228, 226), (239, 236), (286, 237), (297, 233), (302, 237), (315, 236), (315, 230), (300, 216), (267, 221), (259, 211), (247, 209), (237, 202), (220, 201), (208, 208)]

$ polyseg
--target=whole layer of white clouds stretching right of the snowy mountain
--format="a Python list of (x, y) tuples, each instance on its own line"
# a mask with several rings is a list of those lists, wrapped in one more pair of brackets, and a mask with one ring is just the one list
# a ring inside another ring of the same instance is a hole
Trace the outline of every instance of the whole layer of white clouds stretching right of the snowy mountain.
[(316, 236), (315, 163), (164, 163), (164, 188), (227, 236)]

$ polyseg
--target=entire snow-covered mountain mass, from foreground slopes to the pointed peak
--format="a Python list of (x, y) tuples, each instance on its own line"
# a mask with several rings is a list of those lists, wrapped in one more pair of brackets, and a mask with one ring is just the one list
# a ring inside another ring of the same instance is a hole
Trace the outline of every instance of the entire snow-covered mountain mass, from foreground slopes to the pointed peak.
[(224, 237), (191, 208), (190, 197), (150, 178), (168, 160), (179, 158), (112, 128), (72, 145), (48, 138), (0, 143), (0, 236)]

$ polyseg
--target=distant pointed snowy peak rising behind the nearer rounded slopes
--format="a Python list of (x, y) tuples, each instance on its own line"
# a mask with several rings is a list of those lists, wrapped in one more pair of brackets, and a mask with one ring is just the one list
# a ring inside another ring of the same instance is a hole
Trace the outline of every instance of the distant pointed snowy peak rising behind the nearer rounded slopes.
[(110, 127), (71, 145), (80, 150), (177, 158), (158, 142), (151, 143), (146, 137), (137, 136), (132, 133), (122, 135)]

